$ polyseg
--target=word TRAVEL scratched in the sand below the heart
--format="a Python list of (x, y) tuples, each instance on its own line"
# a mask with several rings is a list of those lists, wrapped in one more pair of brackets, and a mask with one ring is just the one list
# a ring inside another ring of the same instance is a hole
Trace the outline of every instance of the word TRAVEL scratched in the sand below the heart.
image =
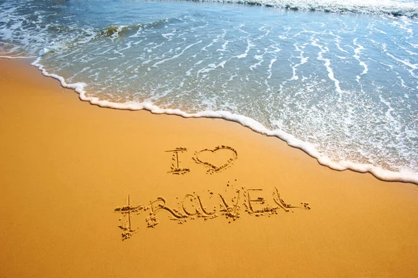
[[(114, 213), (121, 213), (118, 227), (122, 229), (122, 240), (130, 238), (138, 231), (139, 227), (133, 228), (132, 221), (137, 221), (137, 215), (143, 212), (148, 213), (145, 219), (147, 227), (153, 228), (160, 223), (158, 216), (162, 213), (168, 215), (169, 219), (175, 220), (178, 224), (184, 224), (188, 220), (203, 219), (206, 221), (218, 217), (224, 217), (231, 223), (241, 217), (242, 211), (256, 217), (272, 217), (278, 215), (279, 211), (293, 213), (296, 209), (308, 211), (311, 209), (307, 202), (301, 202), (300, 206), (286, 203), (276, 187), (270, 192), (270, 194), (272, 193), (270, 200), (265, 198), (269, 193), (261, 188), (236, 187), (227, 183), (224, 193), (215, 194), (211, 190), (207, 190), (207, 193), (204, 194), (187, 193), (183, 198), (176, 197), (178, 200), (176, 207), (167, 205), (167, 200), (164, 197), (157, 197), (147, 206), (141, 204), (134, 206), (128, 195), (127, 204), (114, 208)], [(212, 208), (208, 208), (206, 206), (208, 204), (211, 204)]]

